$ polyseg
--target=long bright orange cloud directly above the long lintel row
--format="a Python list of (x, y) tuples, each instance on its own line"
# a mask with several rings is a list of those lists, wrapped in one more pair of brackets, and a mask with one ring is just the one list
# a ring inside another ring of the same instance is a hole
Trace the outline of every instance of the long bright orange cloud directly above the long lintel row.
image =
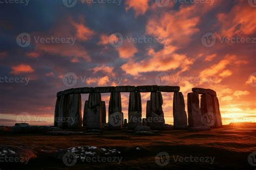
[(186, 55), (173, 53), (175, 49), (176, 47), (173, 46), (165, 46), (159, 52), (154, 52), (150, 49), (149, 54), (151, 54), (151, 58), (139, 62), (130, 60), (121, 66), (121, 68), (127, 74), (133, 76), (137, 76), (139, 73), (164, 72), (178, 68), (180, 68), (181, 72), (185, 72), (192, 65), (193, 60), (189, 59)]

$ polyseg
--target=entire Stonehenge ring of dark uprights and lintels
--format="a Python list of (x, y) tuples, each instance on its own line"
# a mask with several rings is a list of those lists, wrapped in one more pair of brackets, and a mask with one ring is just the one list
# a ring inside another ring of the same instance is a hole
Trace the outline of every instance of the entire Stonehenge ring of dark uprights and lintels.
[[(55, 104), (54, 126), (62, 129), (75, 129), (86, 126), (86, 129), (101, 129), (106, 123), (106, 105), (101, 100), (101, 93), (110, 93), (109, 129), (122, 129), (124, 115), (122, 112), (121, 93), (130, 93), (128, 122), (129, 129), (146, 125), (152, 130), (165, 129), (163, 97), (161, 92), (174, 93), (173, 120), (175, 129), (221, 128), (222, 120), (216, 91), (205, 88), (192, 88), (187, 94), (187, 112), (184, 97), (178, 86), (117, 86), (117, 87), (83, 87), (71, 88), (57, 93)], [(142, 118), (142, 99), (140, 93), (151, 93), (146, 103), (146, 118)], [(82, 120), (81, 94), (89, 94), (84, 103)], [(199, 105), (199, 95), (201, 96)], [(134, 119), (133, 119), (134, 118)], [(142, 121), (143, 120), (143, 121)], [(126, 124), (126, 123), (125, 123)]]

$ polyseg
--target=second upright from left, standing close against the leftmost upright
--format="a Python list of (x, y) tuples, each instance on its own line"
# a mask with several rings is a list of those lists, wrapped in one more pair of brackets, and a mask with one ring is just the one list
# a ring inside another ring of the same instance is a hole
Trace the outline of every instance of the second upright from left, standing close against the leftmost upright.
[(70, 95), (69, 100), (69, 117), (67, 120), (68, 129), (76, 129), (82, 127), (82, 103), (80, 94)]

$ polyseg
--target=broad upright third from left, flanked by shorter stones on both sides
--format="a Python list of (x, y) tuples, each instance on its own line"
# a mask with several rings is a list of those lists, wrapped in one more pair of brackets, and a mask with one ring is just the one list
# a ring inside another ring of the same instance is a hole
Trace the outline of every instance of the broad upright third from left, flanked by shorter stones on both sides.
[(86, 129), (102, 129), (102, 98), (100, 93), (90, 93)]

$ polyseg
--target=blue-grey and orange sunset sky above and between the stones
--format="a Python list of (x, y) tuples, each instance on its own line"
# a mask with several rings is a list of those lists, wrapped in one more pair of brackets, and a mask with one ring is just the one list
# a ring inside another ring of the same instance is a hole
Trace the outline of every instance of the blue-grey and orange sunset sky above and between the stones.
[[(153, 84), (180, 86), (185, 103), (193, 87), (211, 88), (224, 124), (256, 122), (254, 0), (24, 2), (0, 3), (0, 125), (24, 112), (52, 124), (61, 90)], [(173, 94), (162, 94), (172, 124)], [(149, 99), (142, 94), (143, 117)], [(128, 102), (122, 93), (125, 118)]]

